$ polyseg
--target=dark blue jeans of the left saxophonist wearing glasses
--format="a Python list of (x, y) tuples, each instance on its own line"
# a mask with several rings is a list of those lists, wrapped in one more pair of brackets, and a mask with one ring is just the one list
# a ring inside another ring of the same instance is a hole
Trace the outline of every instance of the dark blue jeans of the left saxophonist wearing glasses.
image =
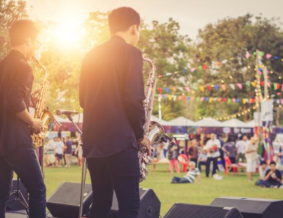
[(22, 145), (0, 157), (0, 218), (12, 189), (13, 171), (29, 193), (29, 218), (46, 218), (46, 187), (32, 145)]

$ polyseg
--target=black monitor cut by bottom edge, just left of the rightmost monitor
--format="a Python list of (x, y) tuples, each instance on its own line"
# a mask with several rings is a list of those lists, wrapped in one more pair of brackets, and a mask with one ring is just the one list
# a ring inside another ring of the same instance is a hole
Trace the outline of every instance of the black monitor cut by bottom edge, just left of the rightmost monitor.
[(243, 218), (236, 208), (176, 203), (164, 218)]

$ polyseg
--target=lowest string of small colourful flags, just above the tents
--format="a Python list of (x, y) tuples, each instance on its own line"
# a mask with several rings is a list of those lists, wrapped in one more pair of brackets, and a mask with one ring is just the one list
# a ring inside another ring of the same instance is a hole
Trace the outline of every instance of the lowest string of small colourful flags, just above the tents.
[[(168, 94), (155, 94), (155, 97), (160, 99), (168, 99), (169, 101), (195, 101), (195, 102), (226, 102), (226, 103), (243, 103), (243, 104), (255, 104), (255, 98), (219, 98), (219, 97), (195, 97), (185, 95), (168, 95)], [(283, 105), (283, 99), (274, 99), (277, 104)]]

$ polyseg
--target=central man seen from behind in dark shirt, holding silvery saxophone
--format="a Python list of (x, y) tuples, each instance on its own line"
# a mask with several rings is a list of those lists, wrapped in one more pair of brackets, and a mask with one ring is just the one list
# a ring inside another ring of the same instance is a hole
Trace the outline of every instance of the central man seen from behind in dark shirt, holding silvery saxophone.
[(84, 58), (79, 83), (83, 108), (83, 157), (93, 189), (91, 218), (107, 218), (113, 191), (118, 218), (137, 218), (140, 207), (138, 142), (150, 156), (144, 136), (142, 55), (135, 46), (140, 15), (130, 7), (113, 10), (111, 39)]

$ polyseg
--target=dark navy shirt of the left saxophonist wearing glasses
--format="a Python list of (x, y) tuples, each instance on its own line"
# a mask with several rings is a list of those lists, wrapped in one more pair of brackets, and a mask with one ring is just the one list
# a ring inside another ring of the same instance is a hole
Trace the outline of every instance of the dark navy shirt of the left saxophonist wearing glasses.
[(27, 123), (16, 113), (29, 108), (32, 68), (23, 54), (12, 50), (0, 62), (0, 156), (18, 146), (32, 146)]

